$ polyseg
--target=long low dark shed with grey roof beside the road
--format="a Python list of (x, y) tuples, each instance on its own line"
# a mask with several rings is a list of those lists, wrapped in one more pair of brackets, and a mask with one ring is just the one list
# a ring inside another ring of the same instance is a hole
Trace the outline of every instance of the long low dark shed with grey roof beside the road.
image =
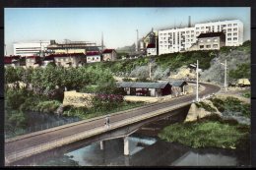
[(123, 88), (127, 95), (162, 96), (171, 94), (169, 83), (122, 82), (117, 86)]

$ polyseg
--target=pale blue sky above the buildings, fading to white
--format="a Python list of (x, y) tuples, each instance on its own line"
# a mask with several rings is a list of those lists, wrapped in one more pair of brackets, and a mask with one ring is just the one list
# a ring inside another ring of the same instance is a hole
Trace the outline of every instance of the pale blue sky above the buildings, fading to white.
[(209, 8), (5, 8), (5, 44), (13, 55), (13, 43), (64, 39), (101, 42), (106, 48), (132, 45), (152, 28), (188, 26), (210, 21), (238, 19), (244, 25), (244, 41), (250, 39), (249, 7)]

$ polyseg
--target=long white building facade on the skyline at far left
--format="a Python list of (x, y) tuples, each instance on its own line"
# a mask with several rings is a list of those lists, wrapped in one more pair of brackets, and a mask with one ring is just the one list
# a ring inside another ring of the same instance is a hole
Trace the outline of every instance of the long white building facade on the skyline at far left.
[(46, 50), (50, 41), (34, 41), (34, 42), (15, 42), (14, 55), (33, 56), (39, 54), (40, 51)]

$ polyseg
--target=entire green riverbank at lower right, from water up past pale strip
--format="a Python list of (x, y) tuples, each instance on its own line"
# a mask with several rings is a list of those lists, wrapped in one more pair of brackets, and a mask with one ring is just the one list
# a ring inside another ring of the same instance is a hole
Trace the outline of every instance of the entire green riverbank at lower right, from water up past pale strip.
[[(215, 108), (209, 109), (209, 102)], [(159, 133), (160, 139), (195, 148), (245, 149), (249, 147), (251, 114), (249, 103), (235, 97), (222, 96), (197, 103), (196, 107), (202, 107), (203, 112), (209, 114), (203, 114), (203, 118), (200, 116), (200, 119), (191, 122), (175, 123), (165, 127)]]

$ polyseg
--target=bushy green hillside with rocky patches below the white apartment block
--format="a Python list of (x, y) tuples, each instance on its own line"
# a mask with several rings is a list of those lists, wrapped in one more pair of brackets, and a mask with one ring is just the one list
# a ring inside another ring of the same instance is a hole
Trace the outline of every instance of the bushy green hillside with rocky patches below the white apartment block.
[[(199, 67), (203, 70), (203, 72), (200, 73), (200, 79), (202, 81), (223, 84), (224, 67), (220, 62), (224, 63), (224, 60), (227, 60), (228, 72), (232, 72), (230, 76), (236, 79), (244, 77), (237, 70), (237, 68), (241, 69), (241, 67), (243, 67), (244, 72), (246, 72), (245, 75), (248, 76), (250, 75), (250, 70), (248, 69), (250, 64), (250, 51), (250, 41), (246, 41), (241, 46), (223, 47), (219, 51), (190, 51), (155, 56), (152, 57), (153, 79), (160, 80), (162, 78), (168, 78), (177, 74), (181, 67), (187, 67), (190, 64), (196, 63), (196, 60), (199, 60)], [(108, 68), (112, 74), (117, 77), (137, 77), (146, 79), (149, 78), (150, 75), (150, 61), (150, 57), (144, 57), (133, 60), (94, 63), (88, 64), (87, 66)], [(237, 64), (244, 65), (239, 66)], [(231, 80), (232, 78), (230, 77), (229, 79)]]

